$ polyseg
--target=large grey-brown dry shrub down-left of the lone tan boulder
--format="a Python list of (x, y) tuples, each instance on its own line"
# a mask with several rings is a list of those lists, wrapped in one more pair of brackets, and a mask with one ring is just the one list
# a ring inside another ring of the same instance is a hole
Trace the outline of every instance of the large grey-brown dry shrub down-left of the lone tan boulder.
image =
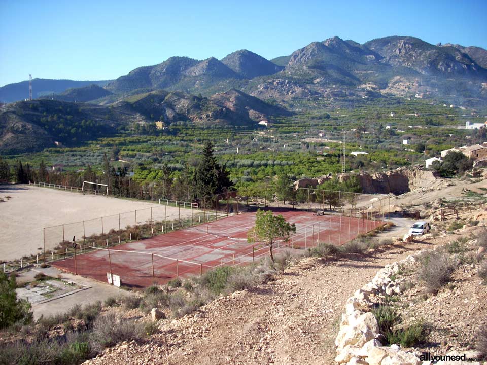
[(94, 350), (113, 346), (118, 342), (141, 339), (141, 323), (127, 318), (116, 318), (113, 313), (106, 313), (96, 318), (90, 343)]

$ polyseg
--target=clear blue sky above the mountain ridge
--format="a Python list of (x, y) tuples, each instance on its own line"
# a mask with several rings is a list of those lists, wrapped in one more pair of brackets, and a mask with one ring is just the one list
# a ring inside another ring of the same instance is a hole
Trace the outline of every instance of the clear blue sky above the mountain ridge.
[(170, 56), (271, 59), (337, 35), (389, 35), (487, 49), (487, 1), (0, 0), (0, 86), (103, 80)]

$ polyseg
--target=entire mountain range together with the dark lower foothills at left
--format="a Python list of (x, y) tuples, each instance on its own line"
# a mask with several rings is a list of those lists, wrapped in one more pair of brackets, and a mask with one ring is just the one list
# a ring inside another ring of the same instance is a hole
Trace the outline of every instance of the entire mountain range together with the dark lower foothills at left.
[[(432, 45), (408, 36), (359, 44), (335, 36), (270, 61), (239, 50), (221, 60), (170, 57), (108, 81), (34, 79), (37, 100), (3, 106), (0, 152), (39, 151), (54, 141), (76, 144), (133, 122), (252, 127), (262, 119), (293, 113), (294, 100), (395, 95), (485, 106), (486, 63), (487, 51), (479, 47)], [(26, 95), (26, 81), (0, 88), (3, 102)], [(279, 104), (291, 110), (275, 106)], [(49, 120), (53, 115), (62, 122)], [(85, 128), (86, 121), (93, 123), (93, 133)], [(50, 123), (62, 128), (53, 129)], [(32, 137), (36, 131), (37, 140)]]

